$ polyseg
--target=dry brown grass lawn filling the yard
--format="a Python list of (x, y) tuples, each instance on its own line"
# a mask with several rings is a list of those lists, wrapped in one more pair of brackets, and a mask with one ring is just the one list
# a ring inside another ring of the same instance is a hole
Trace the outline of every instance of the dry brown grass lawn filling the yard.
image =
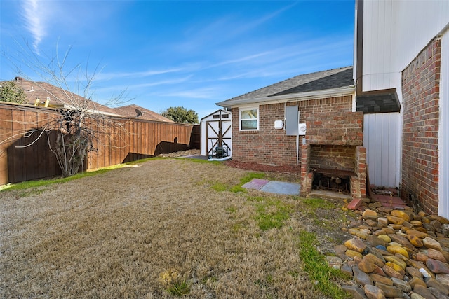
[[(0, 193), (1, 298), (322, 298), (302, 272), (297, 197), (218, 192), (247, 172), (187, 159)], [(262, 231), (257, 202), (295, 211)], [(171, 290), (171, 293), (170, 293)]]

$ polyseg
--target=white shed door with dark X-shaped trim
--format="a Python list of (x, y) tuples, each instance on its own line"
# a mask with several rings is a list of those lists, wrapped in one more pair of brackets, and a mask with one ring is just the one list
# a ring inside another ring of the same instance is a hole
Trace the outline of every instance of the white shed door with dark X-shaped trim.
[(232, 155), (232, 120), (206, 121), (206, 155), (212, 155), (213, 148), (227, 148), (227, 155)]

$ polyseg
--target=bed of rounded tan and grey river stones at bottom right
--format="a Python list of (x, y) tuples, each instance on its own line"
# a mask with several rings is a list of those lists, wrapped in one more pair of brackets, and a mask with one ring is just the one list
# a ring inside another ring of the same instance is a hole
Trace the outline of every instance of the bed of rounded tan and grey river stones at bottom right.
[(358, 220), (344, 228), (352, 239), (335, 246), (357, 284), (345, 291), (354, 298), (449, 298), (448, 219), (366, 200), (358, 209)]

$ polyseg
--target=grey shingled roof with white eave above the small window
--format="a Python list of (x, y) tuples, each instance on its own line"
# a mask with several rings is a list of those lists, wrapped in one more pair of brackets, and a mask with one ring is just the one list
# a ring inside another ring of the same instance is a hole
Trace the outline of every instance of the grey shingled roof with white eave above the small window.
[(344, 88), (354, 88), (352, 67), (342, 67), (340, 69), (317, 71), (316, 73), (295, 76), (253, 92), (227, 99), (217, 103), (217, 105), (236, 106), (238, 104), (269, 102), (273, 99), (285, 99), (289, 96), (309, 96), (313, 95), (314, 92)]

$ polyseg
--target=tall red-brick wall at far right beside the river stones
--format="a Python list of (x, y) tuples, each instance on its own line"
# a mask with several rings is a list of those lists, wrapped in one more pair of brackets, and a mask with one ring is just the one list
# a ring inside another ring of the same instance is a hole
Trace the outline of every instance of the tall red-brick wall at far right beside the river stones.
[(438, 212), (440, 64), (441, 41), (434, 39), (402, 73), (402, 185), (432, 213)]

